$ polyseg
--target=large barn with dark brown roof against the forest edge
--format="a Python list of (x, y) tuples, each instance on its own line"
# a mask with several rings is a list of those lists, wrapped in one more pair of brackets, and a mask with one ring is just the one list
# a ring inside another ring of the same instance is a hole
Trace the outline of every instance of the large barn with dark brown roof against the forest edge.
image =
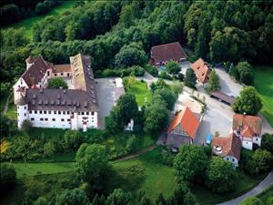
[(186, 53), (179, 42), (152, 46), (149, 63), (153, 66), (166, 65), (168, 61), (181, 62), (186, 60)]

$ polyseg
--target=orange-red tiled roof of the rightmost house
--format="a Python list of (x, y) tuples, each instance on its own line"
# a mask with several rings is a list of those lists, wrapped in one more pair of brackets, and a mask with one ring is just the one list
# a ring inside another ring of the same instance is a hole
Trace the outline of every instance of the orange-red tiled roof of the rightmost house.
[[(242, 128), (242, 132), (246, 133), (248, 136), (251, 134), (251, 132), (260, 135), (262, 129), (262, 118), (256, 116), (234, 114), (232, 128)], [(251, 137), (253, 137), (253, 135)]]

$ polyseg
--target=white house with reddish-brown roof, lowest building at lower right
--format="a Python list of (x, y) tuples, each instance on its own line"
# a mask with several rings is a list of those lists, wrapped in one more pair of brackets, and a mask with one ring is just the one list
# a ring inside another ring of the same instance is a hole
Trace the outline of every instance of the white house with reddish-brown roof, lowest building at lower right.
[(213, 137), (212, 151), (215, 155), (231, 161), (234, 167), (238, 167), (241, 140), (234, 133), (231, 133), (227, 138)]

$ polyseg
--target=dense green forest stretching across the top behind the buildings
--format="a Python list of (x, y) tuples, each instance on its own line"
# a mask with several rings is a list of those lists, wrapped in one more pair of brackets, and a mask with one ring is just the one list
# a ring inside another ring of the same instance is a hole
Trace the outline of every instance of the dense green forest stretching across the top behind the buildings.
[(92, 56), (97, 72), (145, 66), (151, 46), (174, 41), (194, 50), (191, 59), (270, 64), (272, 14), (270, 1), (77, 3), (37, 23), (33, 39), (24, 28), (1, 29), (1, 82), (20, 77), (29, 54), (57, 64), (80, 52)]

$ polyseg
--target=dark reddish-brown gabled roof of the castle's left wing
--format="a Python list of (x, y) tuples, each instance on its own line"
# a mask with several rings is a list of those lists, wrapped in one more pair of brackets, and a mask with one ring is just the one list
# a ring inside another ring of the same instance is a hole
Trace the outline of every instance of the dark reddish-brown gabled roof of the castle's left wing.
[(22, 75), (25, 83), (28, 87), (38, 84), (41, 79), (45, 76), (47, 69), (52, 68), (52, 64), (45, 62), (43, 57), (39, 55), (31, 67), (25, 70), (25, 73)]

